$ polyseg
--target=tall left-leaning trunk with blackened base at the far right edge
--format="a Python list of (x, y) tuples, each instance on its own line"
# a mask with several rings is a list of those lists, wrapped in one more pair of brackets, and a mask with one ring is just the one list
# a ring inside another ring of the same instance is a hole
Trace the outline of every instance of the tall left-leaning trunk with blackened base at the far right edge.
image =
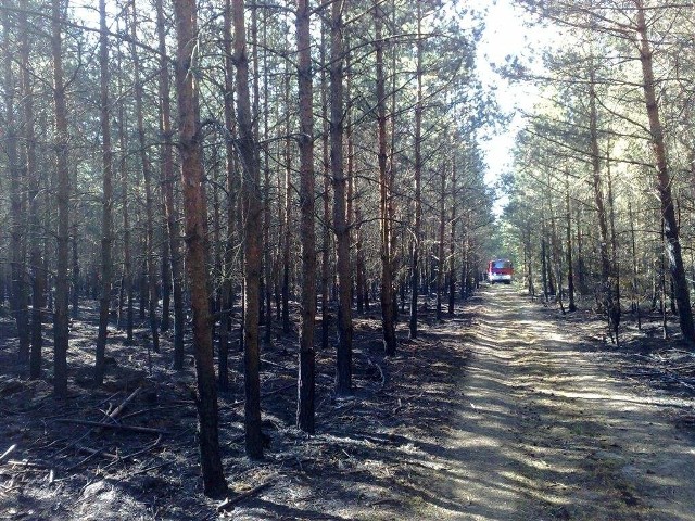
[(690, 342), (695, 341), (695, 323), (693, 322), (693, 309), (691, 296), (685, 278), (685, 268), (681, 253), (679, 227), (675, 219), (675, 208), (671, 194), (671, 176), (669, 174), (666, 140), (659, 116), (659, 105), (656, 96), (656, 80), (654, 79), (653, 52), (647, 34), (645, 20), (645, 7), (642, 0), (634, 0), (637, 9), (637, 38), (640, 45), (640, 61), (642, 62), (643, 89), (646, 102), (652, 144), (656, 157), (657, 189), (661, 201), (661, 216), (664, 219), (664, 233), (669, 257), (669, 270), (673, 280), (675, 301), (683, 338)]

